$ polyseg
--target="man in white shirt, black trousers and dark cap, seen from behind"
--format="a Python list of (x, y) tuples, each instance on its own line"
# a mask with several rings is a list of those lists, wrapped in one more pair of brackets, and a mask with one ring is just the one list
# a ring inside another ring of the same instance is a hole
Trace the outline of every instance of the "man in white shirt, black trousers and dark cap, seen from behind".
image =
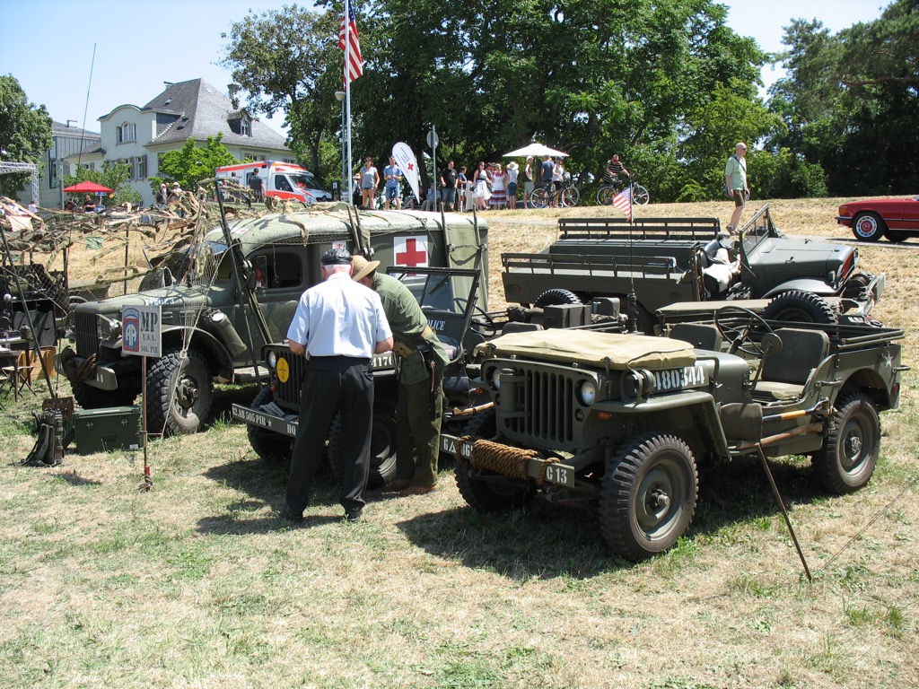
[(323, 282), (303, 292), (288, 340), (295, 355), (306, 354), (300, 418), (290, 458), (287, 503), (282, 514), (303, 519), (310, 503), (316, 464), (336, 412), (341, 412), (348, 465), (341, 503), (349, 522), (360, 520), (370, 463), (374, 354), (392, 348), (392, 333), (380, 297), (351, 280), (351, 254), (323, 254)]

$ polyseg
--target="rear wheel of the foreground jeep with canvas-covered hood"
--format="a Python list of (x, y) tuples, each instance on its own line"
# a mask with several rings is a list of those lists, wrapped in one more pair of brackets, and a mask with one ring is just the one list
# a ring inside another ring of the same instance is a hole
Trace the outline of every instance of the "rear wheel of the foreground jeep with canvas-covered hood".
[(863, 392), (842, 394), (830, 417), (823, 449), (811, 457), (817, 480), (828, 492), (842, 495), (868, 483), (878, 464), (878, 409)]

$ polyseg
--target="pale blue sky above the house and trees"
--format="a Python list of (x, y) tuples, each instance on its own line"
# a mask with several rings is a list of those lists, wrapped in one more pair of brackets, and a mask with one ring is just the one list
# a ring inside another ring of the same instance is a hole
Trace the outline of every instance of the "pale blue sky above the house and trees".
[[(17, 77), (28, 99), (48, 107), (53, 119), (73, 119), (81, 127), (85, 122), (87, 130), (98, 131), (96, 119), (125, 103), (142, 106), (163, 91), (164, 82), (200, 77), (225, 90), (230, 73), (217, 65), (226, 43), (221, 32), (228, 32), (250, 7), (261, 14), (284, 4), (276, 0), (0, 0), (5, 28), (0, 73)], [(766, 51), (781, 50), (783, 27), (792, 18), (817, 18), (835, 32), (879, 17), (887, 5), (881, 0), (723, 4), (730, 8), (729, 26), (753, 37)], [(766, 68), (764, 80), (771, 83), (777, 75)], [(282, 122), (278, 116), (268, 124), (280, 131)]]

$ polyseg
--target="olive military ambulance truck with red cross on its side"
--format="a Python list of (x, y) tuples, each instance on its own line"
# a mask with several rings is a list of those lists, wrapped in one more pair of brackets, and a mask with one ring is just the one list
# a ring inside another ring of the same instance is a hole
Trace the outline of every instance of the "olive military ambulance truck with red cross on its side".
[(302, 292), (322, 279), (320, 256), (333, 245), (383, 265), (466, 267), (475, 257), (487, 271), (484, 224), (441, 218), (337, 206), (239, 220), (165, 262), (160, 287), (76, 306), (74, 347), (58, 356), (58, 370), (85, 408), (129, 404), (141, 391), (142, 367), (140, 357), (122, 355), (121, 310), (159, 304), (164, 355), (147, 371), (147, 427), (194, 433), (208, 419), (215, 382), (267, 373), (262, 347), (283, 342)]

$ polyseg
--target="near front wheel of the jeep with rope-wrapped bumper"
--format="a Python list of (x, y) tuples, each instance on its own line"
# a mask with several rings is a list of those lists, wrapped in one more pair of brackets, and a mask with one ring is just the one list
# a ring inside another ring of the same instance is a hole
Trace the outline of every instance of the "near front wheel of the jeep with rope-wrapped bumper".
[(600, 530), (626, 559), (647, 559), (686, 534), (698, 499), (692, 450), (673, 435), (650, 434), (607, 465), (600, 490)]

